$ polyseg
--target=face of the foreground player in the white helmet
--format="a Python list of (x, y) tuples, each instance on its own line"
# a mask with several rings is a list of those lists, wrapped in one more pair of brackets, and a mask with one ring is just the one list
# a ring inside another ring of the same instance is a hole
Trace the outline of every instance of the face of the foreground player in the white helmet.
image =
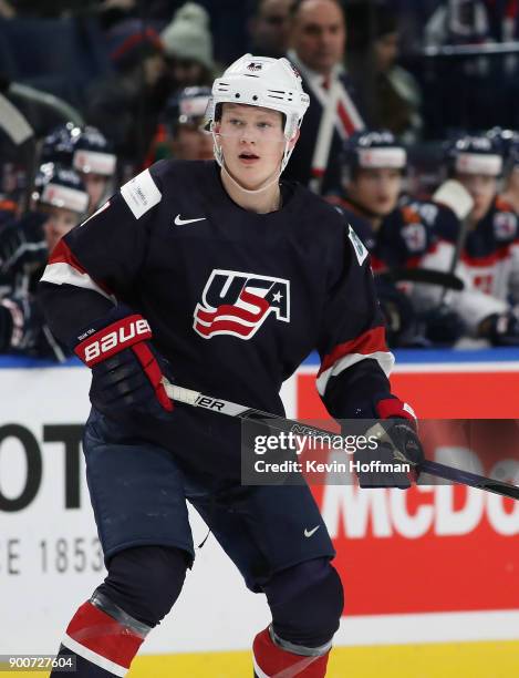
[(279, 111), (224, 104), (215, 125), (217, 141), (228, 172), (246, 188), (257, 188), (279, 172), (286, 141), (282, 122)]

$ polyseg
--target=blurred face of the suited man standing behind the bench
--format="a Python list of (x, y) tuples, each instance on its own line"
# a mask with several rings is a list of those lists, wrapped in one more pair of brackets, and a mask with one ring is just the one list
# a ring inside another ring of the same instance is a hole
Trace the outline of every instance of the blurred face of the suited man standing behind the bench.
[(342, 61), (346, 31), (341, 8), (333, 0), (307, 0), (292, 29), (292, 47), (312, 71), (326, 75)]

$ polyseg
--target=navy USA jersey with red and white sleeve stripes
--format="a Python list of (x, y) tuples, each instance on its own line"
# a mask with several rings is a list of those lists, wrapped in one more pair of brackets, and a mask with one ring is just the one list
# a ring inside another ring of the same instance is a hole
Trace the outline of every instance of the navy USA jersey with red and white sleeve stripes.
[(231, 201), (216, 163), (162, 161), (61, 240), (40, 288), (65, 341), (131, 306), (177, 382), (216, 397), (281, 413), (283, 380), (315, 348), (332, 415), (373, 417), (390, 393), (367, 251), (299, 184), (280, 210), (256, 214)]

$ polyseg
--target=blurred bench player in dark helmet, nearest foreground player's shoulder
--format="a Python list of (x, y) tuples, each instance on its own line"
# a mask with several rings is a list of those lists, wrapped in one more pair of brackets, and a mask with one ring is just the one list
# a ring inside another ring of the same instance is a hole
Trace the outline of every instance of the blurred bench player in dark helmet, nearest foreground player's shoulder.
[[(448, 191), (438, 194), (443, 204), (404, 201), (406, 168), (405, 147), (386, 130), (360, 132), (344, 145), (344, 193), (329, 199), (354, 226), (370, 250), (375, 273), (419, 266), (422, 257), (436, 247), (438, 222), (458, 224), (445, 204)], [(463, 323), (447, 309), (429, 307), (422, 314), (401, 287), (384, 276), (375, 277), (375, 282), (390, 346), (451, 345), (463, 332)]]

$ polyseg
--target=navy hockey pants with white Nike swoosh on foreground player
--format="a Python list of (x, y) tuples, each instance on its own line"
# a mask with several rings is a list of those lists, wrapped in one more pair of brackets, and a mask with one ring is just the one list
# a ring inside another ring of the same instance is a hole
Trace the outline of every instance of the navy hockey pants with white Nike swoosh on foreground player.
[(210, 475), (180, 469), (169, 450), (128, 438), (95, 410), (83, 449), (105, 563), (125, 548), (156, 545), (186, 552), (190, 564), (195, 553), (186, 500), (253, 592), (277, 572), (335, 555), (307, 485), (222, 486)]

